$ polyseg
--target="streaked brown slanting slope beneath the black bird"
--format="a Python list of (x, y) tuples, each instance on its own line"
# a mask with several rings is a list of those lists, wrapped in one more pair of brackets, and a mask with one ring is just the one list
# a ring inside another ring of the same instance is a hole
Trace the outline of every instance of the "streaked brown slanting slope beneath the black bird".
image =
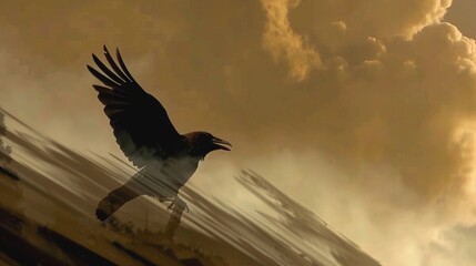
[(7, 265), (379, 265), (252, 171), (235, 180), (262, 209), (186, 186), (181, 195), (190, 212), (173, 232), (165, 232), (166, 206), (150, 197), (100, 223), (95, 204), (132, 168), (28, 126), (6, 139), (14, 158), (0, 171), (0, 262)]

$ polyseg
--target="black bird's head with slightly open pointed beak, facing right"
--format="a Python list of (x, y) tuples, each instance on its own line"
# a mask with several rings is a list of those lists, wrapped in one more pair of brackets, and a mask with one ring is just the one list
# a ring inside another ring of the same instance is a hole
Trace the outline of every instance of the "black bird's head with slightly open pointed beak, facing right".
[(193, 132), (186, 134), (191, 143), (191, 154), (194, 156), (205, 157), (206, 154), (213, 151), (223, 150), (230, 151), (232, 144), (221, 140), (207, 132)]

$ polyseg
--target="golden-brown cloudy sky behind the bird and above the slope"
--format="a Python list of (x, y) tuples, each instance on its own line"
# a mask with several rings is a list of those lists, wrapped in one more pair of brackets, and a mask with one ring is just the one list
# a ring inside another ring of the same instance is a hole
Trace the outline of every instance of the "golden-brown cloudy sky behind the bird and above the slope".
[(194, 185), (246, 204), (253, 168), (384, 265), (476, 262), (474, 0), (2, 7), (0, 104), (45, 135), (122, 154), (85, 69), (120, 48), (180, 132), (233, 143)]

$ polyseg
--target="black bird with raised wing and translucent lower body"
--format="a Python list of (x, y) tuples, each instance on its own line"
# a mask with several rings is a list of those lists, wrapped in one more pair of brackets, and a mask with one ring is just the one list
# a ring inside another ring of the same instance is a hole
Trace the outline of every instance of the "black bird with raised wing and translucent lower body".
[(90, 65), (88, 70), (103, 83), (93, 88), (104, 104), (104, 113), (118, 144), (140, 171), (101, 200), (95, 211), (97, 217), (104, 221), (123, 204), (141, 195), (154, 196), (161, 202), (170, 201), (169, 208), (174, 204), (183, 205), (184, 202), (178, 196), (179, 188), (196, 171), (199, 162), (212, 151), (230, 151), (227, 146), (231, 144), (202, 131), (181, 135), (162, 104), (132, 78), (119, 50), (119, 65), (105, 45), (104, 57), (110, 68), (92, 54), (103, 73)]

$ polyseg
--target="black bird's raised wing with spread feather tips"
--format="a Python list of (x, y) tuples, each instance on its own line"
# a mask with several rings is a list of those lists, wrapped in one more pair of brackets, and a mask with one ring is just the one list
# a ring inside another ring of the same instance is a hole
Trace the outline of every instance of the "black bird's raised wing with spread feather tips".
[(88, 70), (104, 84), (93, 88), (104, 104), (104, 113), (122, 152), (139, 167), (145, 166), (152, 158), (165, 158), (174, 154), (182, 143), (182, 136), (173, 126), (165, 109), (132, 78), (119, 50), (119, 65), (105, 45), (104, 57), (110, 68), (92, 54), (94, 63), (103, 73), (90, 65)]

